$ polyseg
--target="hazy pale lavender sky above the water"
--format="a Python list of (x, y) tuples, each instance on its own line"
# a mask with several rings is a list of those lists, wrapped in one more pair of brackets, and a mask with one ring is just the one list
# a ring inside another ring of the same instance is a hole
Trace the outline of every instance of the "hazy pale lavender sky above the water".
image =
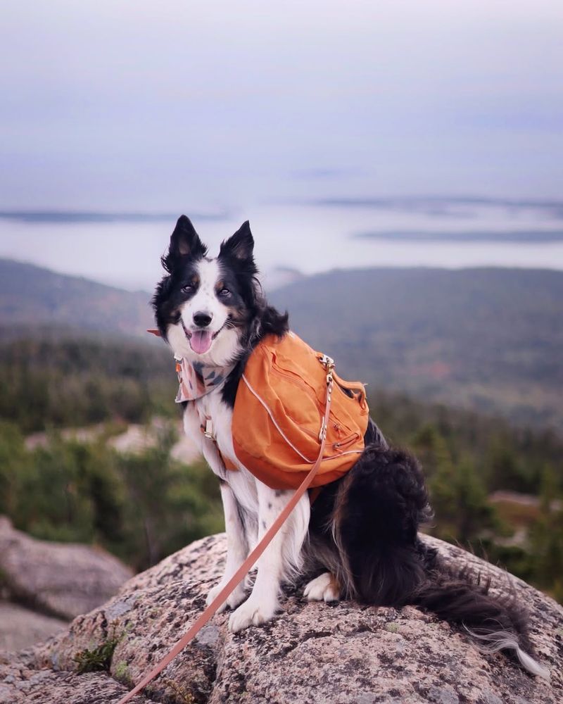
[(8, 0), (0, 207), (552, 197), (561, 0)]

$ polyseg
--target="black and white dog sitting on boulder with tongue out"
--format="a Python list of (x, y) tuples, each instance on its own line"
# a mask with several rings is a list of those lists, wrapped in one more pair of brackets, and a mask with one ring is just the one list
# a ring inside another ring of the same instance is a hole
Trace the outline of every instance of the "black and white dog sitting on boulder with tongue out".
[[(293, 494), (260, 482), (233, 449), (232, 413), (246, 360), (262, 337), (289, 331), (288, 314), (269, 306), (262, 292), (253, 248), (247, 221), (210, 258), (194, 225), (182, 215), (161, 259), (166, 274), (152, 301), (160, 335), (175, 358), (210, 367), (215, 379), (201, 396), (177, 398), (184, 406), (186, 434), (219, 479), (224, 508), (224, 577), (210, 590), (207, 603)], [(202, 418), (213, 432), (202, 432)], [(226, 470), (223, 458), (239, 471)], [(510, 651), (531, 674), (546, 677), (533, 659), (526, 617), (514, 599), (493, 598), (488, 584), (456, 574), (419, 539), (419, 525), (430, 517), (419, 463), (410, 453), (388, 447), (370, 420), (365, 450), (353, 468), (325, 486), (312, 504), (307, 494), (301, 497), (259, 558), (248, 598), (241, 583), (222, 605), (220, 610), (232, 609), (229, 629), (236, 633), (270, 621), (279, 609), (281, 584), (301, 574), (316, 575), (304, 589), (310, 601), (412, 604), (462, 624), (481, 648)]]

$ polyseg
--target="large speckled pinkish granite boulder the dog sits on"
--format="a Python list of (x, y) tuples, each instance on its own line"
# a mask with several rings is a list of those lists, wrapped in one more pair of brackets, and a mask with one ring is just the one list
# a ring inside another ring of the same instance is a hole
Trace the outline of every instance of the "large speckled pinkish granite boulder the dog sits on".
[[(433, 541), (445, 558), (509, 578), (468, 553)], [(0, 667), (0, 703), (117, 702), (160, 660), (203, 609), (224, 562), (224, 536), (171, 555), (125, 584), (68, 631)], [(531, 637), (551, 681), (530, 677), (504, 655), (483, 655), (462, 631), (406, 607), (305, 603), (289, 590), (283, 611), (260, 628), (232, 635), (215, 616), (136, 702), (374, 704), (553, 704), (562, 701), (563, 610), (518, 579), (531, 612)], [(301, 585), (302, 587), (302, 585)], [(108, 672), (75, 674), (77, 653), (115, 639)], [(44, 669), (42, 669), (44, 668)], [(3, 698), (4, 697), (4, 698)]]

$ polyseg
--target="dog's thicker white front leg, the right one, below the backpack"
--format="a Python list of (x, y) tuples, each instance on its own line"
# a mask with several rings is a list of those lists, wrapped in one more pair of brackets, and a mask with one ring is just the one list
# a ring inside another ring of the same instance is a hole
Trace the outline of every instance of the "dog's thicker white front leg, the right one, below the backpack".
[[(258, 540), (262, 539), (293, 491), (274, 491), (262, 482), (258, 489)], [(251, 596), (229, 619), (229, 629), (236, 633), (254, 624), (269, 621), (277, 611), (281, 581), (298, 570), (301, 546), (307, 534), (310, 515), (309, 497), (301, 497), (298, 505), (274, 536), (258, 560), (258, 574)]]

